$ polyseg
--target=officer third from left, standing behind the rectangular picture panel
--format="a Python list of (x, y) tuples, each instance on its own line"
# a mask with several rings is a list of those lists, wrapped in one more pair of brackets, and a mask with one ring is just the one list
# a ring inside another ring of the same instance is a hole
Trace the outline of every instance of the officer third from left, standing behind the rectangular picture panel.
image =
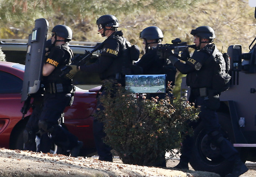
[[(139, 37), (143, 39), (145, 54), (135, 65), (143, 69), (143, 74), (166, 74), (166, 86), (168, 81), (174, 85), (176, 68), (172, 63), (167, 63), (166, 59), (160, 58), (156, 50), (157, 45), (163, 41), (163, 33), (160, 28), (149, 26), (141, 31)], [(160, 99), (165, 98), (165, 94), (147, 94), (147, 98), (156, 96)]]

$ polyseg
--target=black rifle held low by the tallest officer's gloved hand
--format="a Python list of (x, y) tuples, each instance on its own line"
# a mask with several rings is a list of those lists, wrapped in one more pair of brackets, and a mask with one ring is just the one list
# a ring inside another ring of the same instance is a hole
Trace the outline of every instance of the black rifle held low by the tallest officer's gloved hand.
[[(96, 52), (96, 51), (99, 50), (102, 46), (103, 46), (103, 42), (100, 43), (98, 46), (96, 46), (96, 47), (95, 47), (93, 50), (91, 50), (91, 51), (85, 50), (85, 53), (84, 53), (83, 55), (76, 54), (76, 55), (71, 59), (71, 64), (70, 64), (70, 65), (76, 65), (76, 66), (85, 65), (86, 61), (88, 61), (89, 59), (91, 59), (91, 56), (93, 55), (93, 52)], [(66, 74), (69, 73), (70, 70), (71, 70), (70, 67), (64, 66), (63, 68), (61, 68), (62, 74), (61, 74), (60, 76), (65, 76)]]

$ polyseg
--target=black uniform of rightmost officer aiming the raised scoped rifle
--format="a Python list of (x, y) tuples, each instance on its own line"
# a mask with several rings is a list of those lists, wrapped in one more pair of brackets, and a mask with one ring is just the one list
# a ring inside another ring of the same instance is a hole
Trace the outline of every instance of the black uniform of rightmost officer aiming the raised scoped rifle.
[[(214, 44), (206, 45), (203, 49), (195, 51), (191, 58), (186, 61), (186, 64), (177, 61), (174, 63), (174, 66), (182, 74), (187, 74), (186, 82), (191, 89), (189, 102), (195, 103), (195, 106), (201, 106), (199, 113), (200, 121), (203, 122), (211, 141), (220, 147), (221, 155), (225, 159), (228, 161), (239, 160), (237, 150), (220, 133), (220, 125), (216, 112), (220, 105), (220, 93), (211, 89), (214, 61), (213, 57), (210, 56), (214, 48)], [(193, 122), (191, 122), (191, 125), (194, 128), (196, 126)], [(193, 137), (186, 136), (184, 142), (182, 142), (181, 162), (189, 162), (192, 151), (191, 144), (193, 144)]]

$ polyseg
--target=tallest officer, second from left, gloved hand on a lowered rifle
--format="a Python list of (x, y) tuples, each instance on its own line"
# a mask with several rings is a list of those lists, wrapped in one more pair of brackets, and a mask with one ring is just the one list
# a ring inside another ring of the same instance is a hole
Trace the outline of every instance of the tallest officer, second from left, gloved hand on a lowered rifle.
[[(98, 32), (102, 37), (106, 37), (101, 48), (100, 56), (97, 61), (91, 65), (84, 66), (72, 66), (69, 65), (70, 70), (67, 77), (73, 77), (79, 70), (82, 72), (98, 73), (100, 79), (114, 79), (117, 82), (124, 85), (124, 73), (122, 72), (127, 65), (132, 65), (132, 61), (128, 57), (128, 48), (122, 31), (117, 31), (119, 22), (113, 15), (103, 15), (96, 20), (98, 25)], [(102, 86), (102, 94), (105, 90)], [(98, 101), (97, 110), (104, 109)], [(103, 131), (103, 123), (98, 121), (98, 118), (93, 122), (93, 134), (95, 138), (95, 145), (98, 151), (99, 160), (113, 161), (112, 154), (110, 152), (111, 147), (106, 145), (102, 138), (106, 136)]]

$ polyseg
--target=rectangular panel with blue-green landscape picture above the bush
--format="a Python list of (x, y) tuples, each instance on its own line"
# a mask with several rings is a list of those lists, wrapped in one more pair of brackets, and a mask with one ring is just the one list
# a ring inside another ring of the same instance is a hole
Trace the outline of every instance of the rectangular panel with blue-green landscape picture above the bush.
[(126, 75), (125, 88), (133, 93), (165, 93), (165, 74)]

